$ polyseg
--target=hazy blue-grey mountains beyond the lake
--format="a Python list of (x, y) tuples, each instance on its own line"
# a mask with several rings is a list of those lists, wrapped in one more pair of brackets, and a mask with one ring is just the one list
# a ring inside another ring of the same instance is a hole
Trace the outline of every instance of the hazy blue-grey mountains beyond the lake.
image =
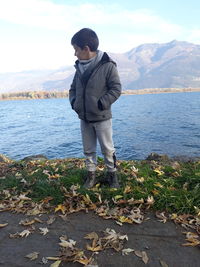
[[(200, 88), (200, 45), (172, 41), (143, 44), (123, 54), (109, 53), (117, 62), (123, 90)], [(68, 90), (74, 67), (0, 74), (0, 93)]]

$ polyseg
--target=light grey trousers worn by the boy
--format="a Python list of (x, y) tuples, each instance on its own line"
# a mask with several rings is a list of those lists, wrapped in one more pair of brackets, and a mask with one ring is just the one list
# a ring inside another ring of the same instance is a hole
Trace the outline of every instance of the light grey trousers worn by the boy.
[(81, 134), (87, 170), (96, 170), (98, 140), (107, 170), (109, 172), (116, 171), (116, 157), (112, 139), (112, 119), (100, 122), (81, 120)]

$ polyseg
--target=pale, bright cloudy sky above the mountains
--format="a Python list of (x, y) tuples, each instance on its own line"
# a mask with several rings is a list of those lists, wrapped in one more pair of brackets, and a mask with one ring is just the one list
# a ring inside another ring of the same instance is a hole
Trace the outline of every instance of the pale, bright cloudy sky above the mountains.
[(73, 65), (71, 38), (85, 27), (112, 53), (172, 40), (200, 45), (199, 10), (199, 0), (0, 0), (0, 73)]

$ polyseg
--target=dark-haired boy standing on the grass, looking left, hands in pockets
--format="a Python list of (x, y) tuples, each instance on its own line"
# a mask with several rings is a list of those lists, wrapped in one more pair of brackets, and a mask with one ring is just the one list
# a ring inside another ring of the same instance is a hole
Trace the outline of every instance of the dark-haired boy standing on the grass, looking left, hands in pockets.
[(121, 94), (116, 63), (106, 53), (97, 50), (99, 40), (91, 29), (78, 31), (72, 37), (71, 44), (78, 60), (75, 62), (76, 72), (69, 90), (69, 100), (81, 124), (87, 169), (84, 187), (89, 189), (97, 183), (98, 140), (107, 167), (106, 180), (111, 188), (119, 188), (111, 120), (111, 105)]

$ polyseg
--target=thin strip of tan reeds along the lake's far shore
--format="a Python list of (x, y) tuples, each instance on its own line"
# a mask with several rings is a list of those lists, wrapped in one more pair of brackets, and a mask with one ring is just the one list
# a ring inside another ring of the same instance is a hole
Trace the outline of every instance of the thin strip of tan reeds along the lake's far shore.
[[(145, 94), (164, 94), (164, 93), (192, 93), (200, 92), (200, 88), (148, 88), (124, 90), (122, 95), (145, 95)], [(69, 91), (24, 91), (0, 94), (0, 101), (7, 100), (33, 100), (33, 99), (52, 99), (68, 98)]]

